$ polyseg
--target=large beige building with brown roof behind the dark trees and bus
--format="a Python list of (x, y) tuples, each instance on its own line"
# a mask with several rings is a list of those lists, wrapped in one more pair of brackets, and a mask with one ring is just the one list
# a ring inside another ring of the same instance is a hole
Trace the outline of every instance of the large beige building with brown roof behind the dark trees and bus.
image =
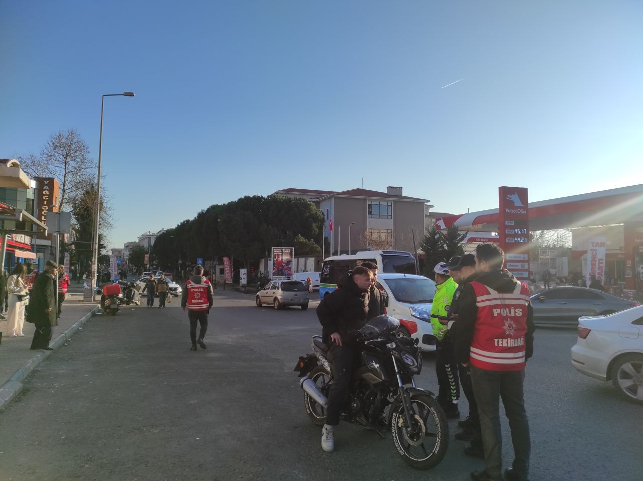
[(424, 235), (428, 200), (403, 195), (402, 187), (388, 186), (386, 192), (287, 188), (274, 194), (307, 199), (324, 213), (324, 237), (332, 246), (327, 255), (369, 248), (415, 252)]

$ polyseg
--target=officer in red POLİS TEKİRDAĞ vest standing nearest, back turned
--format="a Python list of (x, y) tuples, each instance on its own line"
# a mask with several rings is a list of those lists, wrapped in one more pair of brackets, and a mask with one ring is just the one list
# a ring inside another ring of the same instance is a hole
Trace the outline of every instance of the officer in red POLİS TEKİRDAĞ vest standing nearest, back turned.
[(505, 480), (527, 481), (529, 421), (523, 399), (525, 361), (534, 350), (533, 310), (529, 287), (502, 269), (505, 253), (496, 244), (476, 248), (478, 277), (460, 294), (457, 355), (471, 367), (471, 383), (478, 403), (485, 469), (471, 473), (476, 481), (502, 480), (502, 431), (499, 399), (511, 428), (512, 469)]

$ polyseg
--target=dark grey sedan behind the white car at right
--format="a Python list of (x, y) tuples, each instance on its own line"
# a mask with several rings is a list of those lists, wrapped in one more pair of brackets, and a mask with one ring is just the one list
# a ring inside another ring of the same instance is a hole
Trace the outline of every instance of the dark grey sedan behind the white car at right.
[(638, 302), (587, 287), (550, 287), (531, 296), (534, 323), (576, 327), (581, 316), (600, 316), (628, 309)]

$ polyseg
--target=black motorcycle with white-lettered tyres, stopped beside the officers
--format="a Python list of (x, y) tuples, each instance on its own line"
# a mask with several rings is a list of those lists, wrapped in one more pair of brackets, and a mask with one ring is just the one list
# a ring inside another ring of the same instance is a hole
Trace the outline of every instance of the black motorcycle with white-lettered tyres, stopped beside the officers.
[[(349, 403), (341, 417), (386, 437), (390, 430), (395, 448), (415, 469), (437, 466), (449, 445), (449, 426), (433, 393), (417, 388), (413, 376), (422, 370), (417, 340), (398, 337), (399, 321), (377, 316), (368, 321), (354, 340), (359, 346)], [(303, 377), (300, 386), (312, 424), (323, 426), (332, 383), (329, 347), (312, 336), (313, 354), (300, 356), (294, 368)]]

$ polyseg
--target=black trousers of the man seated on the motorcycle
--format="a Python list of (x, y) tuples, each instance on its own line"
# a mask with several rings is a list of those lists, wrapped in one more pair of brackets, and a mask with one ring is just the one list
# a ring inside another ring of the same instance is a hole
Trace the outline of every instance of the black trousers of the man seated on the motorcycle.
[(328, 394), (326, 424), (329, 424), (329, 426), (337, 426), (340, 424), (341, 409), (345, 406), (349, 397), (355, 349), (347, 345), (340, 346), (331, 343), (330, 358), (332, 383), (331, 390)]

